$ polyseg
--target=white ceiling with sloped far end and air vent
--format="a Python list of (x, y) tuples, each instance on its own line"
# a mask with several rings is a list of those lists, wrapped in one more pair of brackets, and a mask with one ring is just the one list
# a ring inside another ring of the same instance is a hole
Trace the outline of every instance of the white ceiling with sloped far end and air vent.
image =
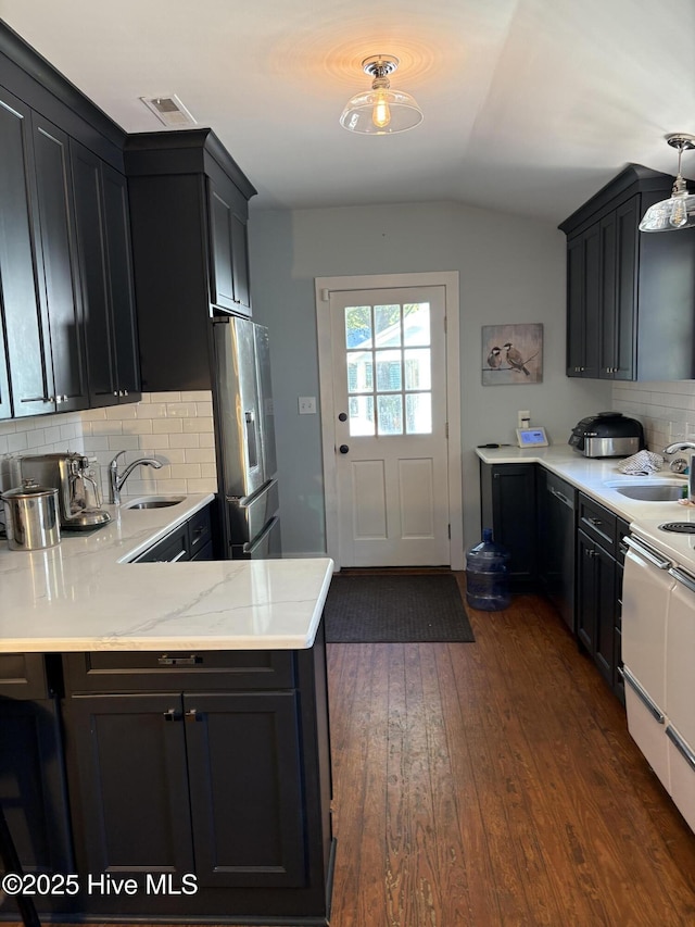
[[(675, 173), (664, 136), (695, 134), (694, 0), (0, 0), (0, 17), (127, 131), (164, 129), (140, 97), (178, 95), (252, 209), (455, 200), (557, 223), (630, 162)], [(354, 136), (338, 118), (377, 53), (425, 120)]]

